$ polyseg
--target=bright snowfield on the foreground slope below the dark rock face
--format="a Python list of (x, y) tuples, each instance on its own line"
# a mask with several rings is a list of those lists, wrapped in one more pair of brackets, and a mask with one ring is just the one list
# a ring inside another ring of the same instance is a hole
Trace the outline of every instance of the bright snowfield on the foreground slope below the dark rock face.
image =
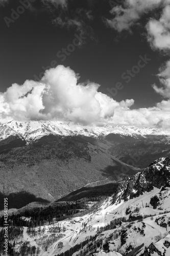
[[(140, 197), (128, 200), (127, 202), (122, 201), (118, 204), (112, 204), (112, 198), (110, 197), (96, 212), (92, 212), (83, 217), (71, 218), (69, 220), (59, 221), (56, 224), (42, 226), (41, 228), (45, 228), (46, 234), (49, 234), (50, 229), (55, 225), (59, 225), (61, 227), (64, 225), (66, 227), (66, 231), (64, 232), (64, 237), (52, 244), (47, 251), (41, 250), (41, 255), (55, 256), (77, 244), (80, 244), (85, 241), (87, 237), (95, 236), (96, 233), (98, 233), (99, 228), (105, 227), (111, 221), (116, 220), (117, 218), (128, 218), (130, 214), (126, 214), (127, 208), (133, 212), (136, 207), (139, 208), (137, 215), (143, 216), (143, 220), (139, 222), (125, 222), (122, 223), (121, 226), (118, 225), (115, 229), (106, 230), (98, 234), (98, 239), (102, 238), (103, 241), (106, 241), (112, 233), (119, 233), (122, 232), (122, 230), (126, 230), (125, 244), (120, 247), (121, 238), (118, 237), (117, 239), (113, 239), (109, 242), (110, 252), (106, 253), (99, 248), (99, 252), (94, 253), (94, 255), (121, 256), (125, 254), (130, 245), (132, 247), (138, 247), (143, 244), (141, 252), (137, 254), (137, 256), (139, 256), (144, 251), (144, 247), (150, 246), (151, 243), (154, 243), (155, 247), (162, 252), (162, 243), (166, 240), (169, 241), (168, 232), (170, 232), (170, 225), (167, 225), (165, 228), (161, 226), (161, 223), (168, 223), (170, 220), (170, 212), (164, 214), (164, 211), (168, 210), (170, 207), (170, 190), (169, 188), (166, 188), (166, 190), (162, 191), (161, 194), (160, 191), (161, 189), (154, 188), (150, 193), (144, 193)], [(150, 205), (150, 199), (153, 196), (161, 197), (161, 209), (153, 209), (153, 206)], [(133, 212), (133, 216), (137, 215)], [(147, 215), (151, 215), (153, 217), (145, 218)], [(157, 223), (155, 222), (156, 219), (159, 219)], [(38, 228), (39, 227), (37, 227), (37, 230)], [(28, 239), (26, 231), (24, 234), (25, 239)], [(29, 239), (29, 241), (31, 242), (31, 245), (35, 244), (34, 238), (31, 240)], [(62, 247), (58, 246), (60, 242), (62, 242)], [(165, 256), (169, 256), (170, 254), (168, 253), (169, 250), (166, 250)], [(77, 252), (72, 255), (76, 256)], [(158, 254), (154, 255), (157, 256)]]

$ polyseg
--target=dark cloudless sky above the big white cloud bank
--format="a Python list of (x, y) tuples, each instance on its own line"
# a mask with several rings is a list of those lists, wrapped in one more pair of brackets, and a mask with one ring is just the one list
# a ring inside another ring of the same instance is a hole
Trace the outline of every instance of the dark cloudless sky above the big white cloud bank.
[[(113, 98), (117, 101), (133, 98), (133, 108), (148, 108), (161, 101), (151, 84), (159, 84), (156, 74), (166, 58), (149, 46), (144, 36), (144, 21), (141, 26), (134, 27), (133, 33), (119, 34), (104, 23), (104, 17), (109, 18), (111, 10), (106, 0), (70, 0), (66, 9), (37, 0), (8, 28), (4, 17), (11, 17), (11, 9), (16, 10), (19, 5), (19, 1), (12, 0), (0, 8), (1, 92), (12, 83), (22, 84), (26, 79), (35, 79), (34, 75), (43, 72), (42, 66), (50, 66), (51, 61), (56, 60), (58, 65), (69, 66), (78, 73), (80, 82), (90, 80), (101, 84), (99, 91), (105, 94), (107, 88), (122, 82), (124, 89)], [(88, 19), (86, 13), (92, 17)], [(80, 19), (83, 27), (79, 30), (74, 26), (59, 26), (57, 17)], [(56, 54), (72, 43), (75, 34), (85, 36), (85, 42), (62, 61)], [(127, 83), (121, 78), (122, 74), (132, 69), (139, 56), (145, 54), (151, 61)]]

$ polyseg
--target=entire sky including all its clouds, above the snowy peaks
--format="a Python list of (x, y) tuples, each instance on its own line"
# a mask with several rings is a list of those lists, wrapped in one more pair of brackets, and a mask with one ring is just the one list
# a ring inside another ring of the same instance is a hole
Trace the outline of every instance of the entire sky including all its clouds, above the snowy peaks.
[(170, 0), (0, 0), (0, 118), (168, 128)]

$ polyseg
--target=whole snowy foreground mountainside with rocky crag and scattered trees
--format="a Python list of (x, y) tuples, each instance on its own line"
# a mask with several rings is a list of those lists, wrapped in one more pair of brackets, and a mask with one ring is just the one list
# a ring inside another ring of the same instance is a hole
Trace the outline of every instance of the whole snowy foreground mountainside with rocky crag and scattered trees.
[[(169, 181), (170, 158), (160, 158), (120, 182), (97, 209), (37, 226), (34, 236), (25, 227), (23, 240), (40, 246), (41, 256), (169, 256)], [(44, 239), (51, 241), (46, 249)]]

